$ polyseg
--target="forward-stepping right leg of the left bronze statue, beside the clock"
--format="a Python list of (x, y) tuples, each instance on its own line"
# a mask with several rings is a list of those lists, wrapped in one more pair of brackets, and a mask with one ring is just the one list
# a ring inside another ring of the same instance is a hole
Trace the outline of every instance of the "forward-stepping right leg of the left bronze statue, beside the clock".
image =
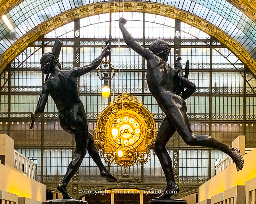
[(97, 164), (100, 169), (100, 176), (107, 179), (108, 181), (117, 181), (117, 179), (107, 170), (100, 159), (99, 152), (95, 146), (95, 142), (93, 136), (90, 132), (88, 132), (88, 147), (87, 147), (89, 155), (92, 157), (93, 161)]

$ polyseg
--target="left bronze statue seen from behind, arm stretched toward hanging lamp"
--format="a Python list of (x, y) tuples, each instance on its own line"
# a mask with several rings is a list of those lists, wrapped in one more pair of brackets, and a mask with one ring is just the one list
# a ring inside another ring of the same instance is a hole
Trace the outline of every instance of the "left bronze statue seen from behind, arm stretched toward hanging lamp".
[(57, 187), (57, 189), (62, 193), (64, 199), (71, 199), (67, 192), (67, 185), (81, 165), (86, 154), (86, 149), (93, 161), (99, 167), (100, 176), (108, 181), (117, 180), (101, 162), (93, 136), (88, 132), (86, 113), (84, 111), (83, 103), (79, 98), (78, 88), (76, 85), (77, 77), (96, 69), (102, 62), (102, 59), (107, 57), (110, 52), (110, 46), (106, 46), (101, 55), (93, 60), (91, 64), (65, 71), (61, 70), (58, 58), (53, 60), (52, 67), (51, 69), (49, 68), (49, 63), (53, 55), (52, 52), (45, 53), (40, 59), (42, 71), (47, 73), (49, 68), (51, 76), (43, 84), (40, 100), (36, 107), (35, 114), (31, 113), (31, 119), (36, 120), (44, 112), (44, 107), (46, 105), (48, 95), (50, 94), (58, 111), (60, 112), (61, 128), (65, 132), (74, 135), (76, 140), (75, 157), (68, 165), (67, 172)]

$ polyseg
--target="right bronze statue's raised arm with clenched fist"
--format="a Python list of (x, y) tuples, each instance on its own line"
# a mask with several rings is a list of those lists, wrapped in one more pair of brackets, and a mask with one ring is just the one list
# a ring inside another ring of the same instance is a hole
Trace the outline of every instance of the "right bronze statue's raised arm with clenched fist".
[(126, 22), (127, 20), (124, 18), (119, 19), (119, 28), (123, 33), (124, 41), (126, 42), (126, 44), (129, 47), (131, 47), (135, 52), (137, 52), (142, 57), (144, 57), (146, 60), (149, 60), (155, 57), (155, 54), (153, 52), (139, 45), (139, 43), (136, 42), (136, 40), (132, 37), (132, 35), (126, 30), (126, 28), (124, 27)]

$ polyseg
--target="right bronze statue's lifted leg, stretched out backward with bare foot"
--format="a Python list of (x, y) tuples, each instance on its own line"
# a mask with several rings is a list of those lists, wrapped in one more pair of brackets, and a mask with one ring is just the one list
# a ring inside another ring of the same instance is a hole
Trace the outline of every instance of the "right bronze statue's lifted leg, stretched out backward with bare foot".
[(168, 93), (164, 96), (164, 99), (167, 98), (168, 101), (165, 100), (167, 105), (165, 106), (167, 115), (187, 145), (209, 147), (225, 152), (236, 163), (237, 171), (242, 170), (244, 159), (240, 154), (239, 149), (229, 147), (209, 135), (195, 135), (190, 129), (188, 116), (186, 114), (187, 106), (185, 101), (176, 94)]

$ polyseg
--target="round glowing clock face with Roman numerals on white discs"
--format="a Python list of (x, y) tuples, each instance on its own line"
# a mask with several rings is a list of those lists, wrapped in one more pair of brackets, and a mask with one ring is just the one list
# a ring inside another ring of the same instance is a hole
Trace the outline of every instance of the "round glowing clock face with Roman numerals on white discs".
[(141, 137), (141, 124), (135, 117), (122, 116), (117, 119), (117, 126), (112, 127), (114, 142), (123, 147), (130, 147)]

